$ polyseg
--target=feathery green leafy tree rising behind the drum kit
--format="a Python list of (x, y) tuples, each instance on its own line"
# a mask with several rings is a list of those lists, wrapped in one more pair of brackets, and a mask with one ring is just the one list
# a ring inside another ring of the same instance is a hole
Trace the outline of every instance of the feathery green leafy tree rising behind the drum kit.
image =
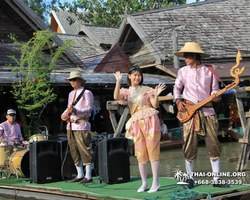
[[(20, 58), (9, 56), (16, 62), (15, 66), (10, 65), (17, 77), (17, 82), (13, 85), (13, 95), (29, 136), (38, 133), (44, 108), (56, 98), (51, 86), (51, 72), (57, 66), (57, 60), (72, 43), (66, 41), (63, 46), (53, 50), (50, 38), (54, 34), (48, 30), (38, 31), (27, 43), (21, 43), (15, 35), (10, 35), (15, 49), (21, 54)], [(44, 49), (50, 50), (49, 58), (45, 57)]]

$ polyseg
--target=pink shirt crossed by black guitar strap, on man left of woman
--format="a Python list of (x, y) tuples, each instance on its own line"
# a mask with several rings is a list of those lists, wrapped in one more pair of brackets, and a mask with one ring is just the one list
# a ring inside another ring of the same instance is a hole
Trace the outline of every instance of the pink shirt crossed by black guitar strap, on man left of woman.
[[(75, 100), (77, 99), (77, 97), (79, 96), (79, 94), (82, 92), (83, 89), (84, 89), (83, 87), (80, 87), (77, 89)], [(75, 90), (69, 93), (68, 107), (71, 106), (74, 95), (75, 95)], [(77, 120), (77, 119), (89, 118), (91, 116), (93, 104), (94, 104), (94, 96), (92, 92), (89, 90), (85, 90), (80, 100), (74, 106), (74, 108), (76, 109), (76, 114), (72, 114), (70, 116), (70, 119)], [(62, 115), (66, 113), (67, 113), (67, 109), (63, 112)], [(67, 124), (67, 130), (69, 129), (70, 129), (70, 123)], [(91, 130), (91, 124), (89, 122), (71, 123), (71, 130), (89, 131)]]

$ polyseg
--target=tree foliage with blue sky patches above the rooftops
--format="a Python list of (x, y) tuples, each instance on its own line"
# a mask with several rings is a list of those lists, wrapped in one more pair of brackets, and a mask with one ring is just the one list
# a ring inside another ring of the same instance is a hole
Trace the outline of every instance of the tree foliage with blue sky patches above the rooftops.
[[(76, 14), (85, 23), (118, 27), (122, 15), (185, 4), (186, 0), (24, 0), (42, 19), (58, 7)], [(84, 14), (79, 9), (85, 11)], [(69, 19), (69, 23), (72, 19)]]

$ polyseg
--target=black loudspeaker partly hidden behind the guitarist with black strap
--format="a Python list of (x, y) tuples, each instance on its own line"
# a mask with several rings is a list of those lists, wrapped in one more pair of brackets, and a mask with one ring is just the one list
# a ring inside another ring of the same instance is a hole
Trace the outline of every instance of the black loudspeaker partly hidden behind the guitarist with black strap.
[(77, 176), (76, 167), (70, 154), (68, 140), (59, 141), (60, 159), (61, 159), (61, 175), (63, 180), (73, 179)]

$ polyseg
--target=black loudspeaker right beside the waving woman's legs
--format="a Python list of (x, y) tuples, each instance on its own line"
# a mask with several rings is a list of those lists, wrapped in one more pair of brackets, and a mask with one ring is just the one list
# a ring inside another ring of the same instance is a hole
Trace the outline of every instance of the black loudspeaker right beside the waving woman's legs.
[(98, 144), (100, 182), (124, 183), (130, 180), (126, 138), (108, 138)]

